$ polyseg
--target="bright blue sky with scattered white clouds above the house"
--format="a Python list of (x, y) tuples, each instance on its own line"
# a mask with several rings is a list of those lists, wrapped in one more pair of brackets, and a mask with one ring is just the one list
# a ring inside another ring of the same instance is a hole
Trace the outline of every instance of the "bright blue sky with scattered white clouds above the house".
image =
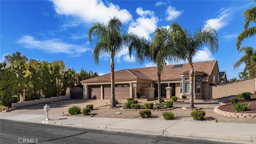
[[(236, 48), (237, 36), (244, 28), (241, 14), (254, 6), (253, 0), (1, 0), (0, 59), (20, 51), (28, 59), (62, 60), (77, 72), (83, 68), (100, 75), (110, 73), (108, 54), (100, 56), (99, 65), (94, 64), (92, 51), (97, 39), (90, 43), (88, 30), (95, 22), (106, 24), (110, 17), (117, 16), (124, 31), (131, 30), (148, 39), (156, 27), (168, 27), (172, 22), (178, 22), (191, 33), (210, 24), (218, 32), (218, 52), (212, 55), (206, 45), (193, 62), (216, 59), (228, 79), (238, 78), (244, 65), (237, 70), (233, 65), (243, 55)], [(243, 41), (242, 46), (245, 45), (256, 47), (255, 36)], [(133, 53), (130, 58), (124, 47), (115, 57), (115, 71), (154, 66), (149, 61), (139, 65), (135, 57)]]

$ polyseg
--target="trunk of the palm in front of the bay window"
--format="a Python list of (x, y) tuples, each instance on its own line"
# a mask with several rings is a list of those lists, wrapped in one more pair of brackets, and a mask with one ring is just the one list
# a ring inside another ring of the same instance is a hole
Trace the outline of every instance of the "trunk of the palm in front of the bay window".
[(194, 108), (194, 69), (192, 61), (189, 61), (189, 108)]

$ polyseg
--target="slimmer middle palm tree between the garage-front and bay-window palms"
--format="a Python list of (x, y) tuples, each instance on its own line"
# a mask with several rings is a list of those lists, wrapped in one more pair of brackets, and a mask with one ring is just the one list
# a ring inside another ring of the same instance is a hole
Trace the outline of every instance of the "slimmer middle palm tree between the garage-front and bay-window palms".
[(149, 46), (150, 59), (157, 65), (158, 76), (158, 103), (161, 103), (161, 73), (164, 67), (165, 55), (162, 55), (159, 51), (166, 48), (166, 41), (168, 38), (168, 30), (164, 27), (156, 28), (153, 32), (152, 43)]

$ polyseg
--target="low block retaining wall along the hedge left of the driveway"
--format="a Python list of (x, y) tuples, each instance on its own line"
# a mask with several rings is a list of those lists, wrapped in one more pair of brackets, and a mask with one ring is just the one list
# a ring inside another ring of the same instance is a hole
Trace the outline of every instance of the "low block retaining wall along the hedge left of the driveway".
[(58, 97), (50, 97), (50, 98), (43, 98), (43, 99), (35, 99), (34, 101), (24, 101), (23, 103), (12, 103), (12, 107), (23, 107), (23, 106), (34, 105), (34, 104), (38, 104), (38, 103), (61, 101), (64, 99), (70, 99), (70, 89), (66, 90), (66, 95), (60, 95)]

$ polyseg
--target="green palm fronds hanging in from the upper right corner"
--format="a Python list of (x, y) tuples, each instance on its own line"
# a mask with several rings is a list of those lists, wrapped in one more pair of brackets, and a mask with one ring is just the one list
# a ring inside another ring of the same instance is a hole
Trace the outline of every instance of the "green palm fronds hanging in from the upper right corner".
[[(256, 0), (254, 0), (256, 3)], [(242, 16), (245, 17), (244, 31), (239, 34), (236, 41), (236, 47), (239, 50), (241, 42), (248, 37), (252, 37), (256, 34), (256, 26), (248, 28), (251, 22), (256, 23), (256, 6), (244, 10)]]

